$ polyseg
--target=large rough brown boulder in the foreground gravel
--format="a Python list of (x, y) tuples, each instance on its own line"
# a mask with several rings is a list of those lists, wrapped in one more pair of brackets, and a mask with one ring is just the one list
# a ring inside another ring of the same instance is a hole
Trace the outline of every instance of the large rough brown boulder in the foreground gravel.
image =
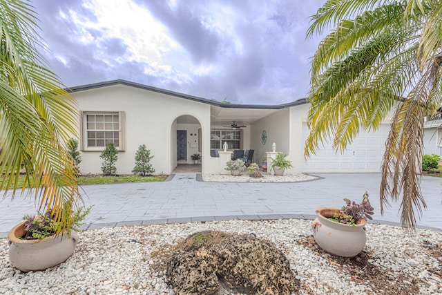
[(299, 282), (273, 243), (253, 235), (201, 231), (177, 245), (166, 277), (175, 294), (293, 294)]

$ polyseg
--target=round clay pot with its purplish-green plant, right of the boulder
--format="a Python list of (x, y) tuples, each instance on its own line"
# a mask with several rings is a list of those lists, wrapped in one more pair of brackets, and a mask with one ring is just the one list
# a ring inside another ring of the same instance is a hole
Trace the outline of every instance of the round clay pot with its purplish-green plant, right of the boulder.
[(365, 247), (367, 236), (364, 227), (367, 219), (372, 219), (374, 208), (368, 200), (367, 192), (359, 204), (344, 200), (346, 206), (341, 209), (317, 209), (317, 217), (311, 229), (320, 248), (336, 256), (353, 257)]

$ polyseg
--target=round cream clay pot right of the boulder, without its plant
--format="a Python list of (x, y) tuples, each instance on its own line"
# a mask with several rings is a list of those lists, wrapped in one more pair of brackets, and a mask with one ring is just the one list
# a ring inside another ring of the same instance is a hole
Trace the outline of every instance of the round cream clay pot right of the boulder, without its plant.
[(329, 254), (343, 257), (353, 257), (361, 253), (365, 247), (367, 236), (365, 234), (366, 220), (361, 220), (356, 226), (329, 220), (338, 208), (319, 208), (316, 210), (316, 219), (311, 224), (313, 236), (324, 251)]

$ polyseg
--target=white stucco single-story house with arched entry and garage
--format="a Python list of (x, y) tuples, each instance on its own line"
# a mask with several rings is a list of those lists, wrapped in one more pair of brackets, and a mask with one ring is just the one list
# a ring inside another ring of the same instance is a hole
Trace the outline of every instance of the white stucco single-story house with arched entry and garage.
[[(291, 172), (379, 172), (389, 130), (385, 122), (374, 133), (361, 133), (344, 153), (336, 155), (325, 145), (305, 162), (309, 108), (305, 99), (274, 106), (222, 104), (125, 80), (77, 86), (70, 93), (80, 110), (80, 130), (74, 136), (79, 139), (84, 174), (101, 173), (99, 155), (107, 142), (119, 150), (119, 174), (131, 173), (142, 144), (154, 156), (155, 172), (169, 174), (179, 163), (193, 163), (194, 153), (202, 156), (202, 173), (227, 173), (224, 166), (231, 151), (253, 149), (253, 162), (260, 162), (273, 142), (292, 161)], [(233, 121), (242, 127), (232, 129)], [(437, 127), (429, 130), (434, 133)], [(432, 153), (441, 154), (441, 135), (439, 129), (432, 137)], [(229, 145), (225, 153), (224, 142)], [(219, 157), (211, 156), (211, 150), (218, 150)]]

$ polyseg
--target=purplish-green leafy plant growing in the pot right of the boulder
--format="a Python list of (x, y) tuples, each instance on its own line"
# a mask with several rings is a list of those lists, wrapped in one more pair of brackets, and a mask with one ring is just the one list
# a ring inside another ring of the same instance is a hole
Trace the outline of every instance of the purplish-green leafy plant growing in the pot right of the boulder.
[(374, 208), (368, 200), (368, 193), (365, 191), (361, 203), (356, 203), (347, 198), (344, 199), (346, 206), (340, 209), (340, 213), (334, 213), (333, 218), (330, 220), (344, 223), (346, 225), (356, 226), (361, 220), (372, 220), (372, 215), (374, 214)]

